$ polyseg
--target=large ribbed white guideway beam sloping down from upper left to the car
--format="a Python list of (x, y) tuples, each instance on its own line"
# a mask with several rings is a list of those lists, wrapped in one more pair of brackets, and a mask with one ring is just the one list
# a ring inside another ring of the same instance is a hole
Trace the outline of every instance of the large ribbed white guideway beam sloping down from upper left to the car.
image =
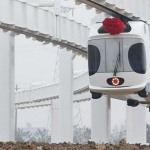
[(12, 31), (14, 36), (24, 34), (86, 57), (88, 26), (24, 0), (2, 0), (1, 3), (0, 28), (4, 32)]

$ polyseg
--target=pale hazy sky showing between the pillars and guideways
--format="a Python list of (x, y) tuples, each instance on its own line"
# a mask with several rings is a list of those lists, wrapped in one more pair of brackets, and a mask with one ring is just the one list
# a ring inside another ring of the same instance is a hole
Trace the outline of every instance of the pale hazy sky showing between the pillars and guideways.
[[(66, 2), (63, 2), (65, 4)], [(70, 6), (74, 4), (69, 1)], [(90, 19), (95, 11), (86, 11), (85, 6), (76, 7), (75, 19), (84, 24), (90, 25)], [(15, 38), (15, 83), (19, 88), (25, 89), (31, 83), (46, 81), (52, 83), (54, 77), (57, 48), (51, 44), (42, 45), (26, 39), (20, 35)], [(74, 70), (87, 69), (87, 61), (77, 56), (74, 60)], [(83, 125), (91, 126), (91, 105), (90, 101), (80, 103)], [(26, 127), (29, 122), (33, 127), (46, 127), (49, 107), (30, 108), (18, 110), (18, 127)], [(74, 111), (75, 112), (75, 111)], [(126, 118), (126, 102), (112, 100), (112, 126), (120, 124)], [(119, 112), (119, 113), (118, 113)], [(147, 110), (147, 121), (150, 122), (150, 115)]]

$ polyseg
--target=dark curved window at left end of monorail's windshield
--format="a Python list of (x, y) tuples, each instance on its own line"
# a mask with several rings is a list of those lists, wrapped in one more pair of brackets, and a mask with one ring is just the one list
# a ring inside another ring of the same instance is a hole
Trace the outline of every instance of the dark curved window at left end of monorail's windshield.
[(100, 52), (96, 46), (88, 45), (88, 67), (89, 75), (93, 75), (98, 71), (100, 66)]

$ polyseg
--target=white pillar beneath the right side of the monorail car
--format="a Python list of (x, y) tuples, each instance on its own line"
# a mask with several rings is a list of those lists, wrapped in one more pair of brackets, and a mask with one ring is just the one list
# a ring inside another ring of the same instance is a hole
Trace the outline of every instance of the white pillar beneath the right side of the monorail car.
[(129, 107), (126, 110), (126, 138), (128, 143), (146, 144), (146, 108)]

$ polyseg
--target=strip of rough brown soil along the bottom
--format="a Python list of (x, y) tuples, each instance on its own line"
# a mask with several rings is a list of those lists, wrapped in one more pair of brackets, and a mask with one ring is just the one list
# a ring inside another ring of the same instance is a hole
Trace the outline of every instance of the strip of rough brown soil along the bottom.
[(95, 144), (88, 142), (88, 144), (71, 144), (71, 143), (35, 143), (35, 142), (0, 142), (0, 150), (150, 150), (147, 145), (127, 144), (123, 139), (119, 145), (112, 144)]

